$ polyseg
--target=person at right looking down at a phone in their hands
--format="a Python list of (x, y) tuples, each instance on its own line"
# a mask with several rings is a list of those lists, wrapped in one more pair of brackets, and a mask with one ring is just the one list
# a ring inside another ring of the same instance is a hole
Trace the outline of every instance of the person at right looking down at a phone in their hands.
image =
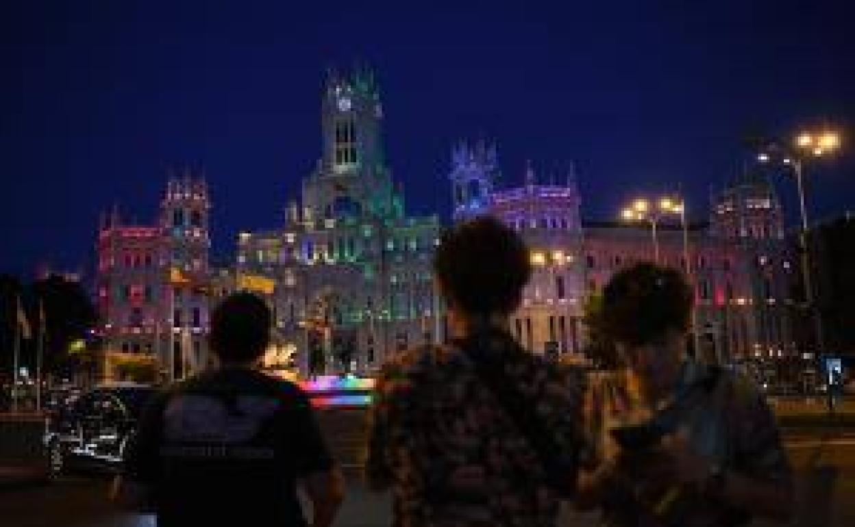
[(638, 264), (604, 289), (605, 331), (628, 368), (592, 383), (593, 455), (577, 504), (613, 526), (712, 527), (786, 518), (793, 476), (752, 381), (687, 360), (692, 290), (680, 272)]

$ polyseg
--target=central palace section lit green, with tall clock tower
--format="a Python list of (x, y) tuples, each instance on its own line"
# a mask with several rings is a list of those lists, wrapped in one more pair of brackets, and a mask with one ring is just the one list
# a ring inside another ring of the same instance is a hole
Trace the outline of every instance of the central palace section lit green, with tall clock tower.
[(238, 289), (271, 280), (274, 346), (296, 350), (300, 372), (370, 372), (397, 350), (435, 342), (444, 327), (431, 271), (439, 219), (405, 214), (382, 118), (370, 73), (331, 73), (321, 158), (300, 202), (275, 230), (238, 237)]

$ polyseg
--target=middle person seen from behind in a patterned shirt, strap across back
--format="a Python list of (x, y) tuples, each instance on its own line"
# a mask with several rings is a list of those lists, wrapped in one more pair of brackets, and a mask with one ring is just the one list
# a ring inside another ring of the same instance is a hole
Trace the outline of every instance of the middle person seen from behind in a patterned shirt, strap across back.
[(554, 524), (575, 483), (582, 389), (510, 334), (528, 249), (498, 221), (476, 219), (443, 237), (434, 270), (453, 339), (383, 366), (368, 483), (392, 488), (394, 526)]

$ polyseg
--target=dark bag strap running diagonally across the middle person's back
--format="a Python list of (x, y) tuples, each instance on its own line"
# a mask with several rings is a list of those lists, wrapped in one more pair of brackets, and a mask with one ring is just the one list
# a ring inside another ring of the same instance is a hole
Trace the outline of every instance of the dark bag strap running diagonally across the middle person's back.
[(515, 389), (515, 382), (504, 372), (502, 364), (498, 360), (488, 361), (481, 356), (478, 345), (486, 342), (486, 338), (476, 337), (456, 340), (455, 344), (466, 354), (481, 383), (492, 393), (505, 415), (513, 421), (516, 429), (534, 449), (547, 478), (551, 479), (554, 471), (565, 468), (561, 463), (562, 449), (558, 447), (554, 435), (547, 430), (534, 411), (533, 401), (528, 401), (519, 389)]

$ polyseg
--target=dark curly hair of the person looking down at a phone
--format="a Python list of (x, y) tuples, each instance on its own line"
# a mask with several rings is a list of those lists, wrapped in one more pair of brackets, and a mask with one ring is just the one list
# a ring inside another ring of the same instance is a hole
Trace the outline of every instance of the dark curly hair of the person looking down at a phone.
[(687, 331), (692, 302), (692, 289), (681, 272), (639, 263), (617, 272), (606, 284), (604, 329), (618, 343), (657, 343), (669, 330)]

